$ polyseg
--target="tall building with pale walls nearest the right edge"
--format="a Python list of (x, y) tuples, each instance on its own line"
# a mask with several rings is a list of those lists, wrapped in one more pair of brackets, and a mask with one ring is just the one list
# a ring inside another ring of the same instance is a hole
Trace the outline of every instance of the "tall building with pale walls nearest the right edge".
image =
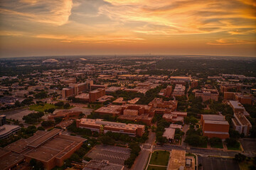
[(240, 134), (244, 134), (245, 136), (249, 135), (250, 129), (252, 128), (252, 124), (249, 120), (240, 112), (234, 113), (234, 118), (232, 118), (232, 124), (234, 130), (238, 131)]

